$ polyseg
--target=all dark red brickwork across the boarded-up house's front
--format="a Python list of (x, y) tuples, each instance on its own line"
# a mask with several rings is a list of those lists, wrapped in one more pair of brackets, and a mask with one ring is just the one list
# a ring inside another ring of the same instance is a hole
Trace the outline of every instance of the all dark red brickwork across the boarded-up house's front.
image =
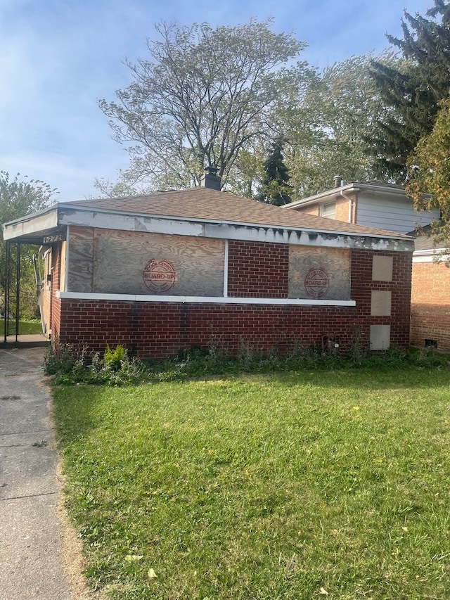
[[(245, 286), (249, 285), (248, 278), (253, 277), (255, 265), (262, 281), (255, 280), (258, 293), (264, 290), (278, 293), (279, 272), (275, 278), (278, 288), (273, 287), (271, 279), (276, 274), (276, 265), (287, 269), (283, 248), (274, 245), (269, 249), (269, 244), (259, 248), (248, 243), (230, 243), (230, 246), (235, 262), (233, 266), (229, 264), (229, 270), (239, 269), (242, 264), (241, 276), (245, 280), (240, 282), (233, 274), (234, 293), (248, 291)], [(257, 253), (252, 260), (250, 253), (254, 250)], [(62, 343), (86, 343), (98, 351), (103, 351), (106, 344), (122, 344), (142, 358), (155, 359), (174, 355), (193, 344), (205, 347), (214, 344), (236, 354), (242, 341), (261, 350), (285, 352), (295, 343), (321, 345), (323, 336), (337, 336), (342, 351), (347, 352), (355, 336), (368, 344), (371, 324), (391, 324), (392, 344), (407, 345), (411, 255), (393, 255), (394, 281), (372, 282), (373, 253), (352, 251), (351, 298), (356, 300), (356, 307), (61, 300), (60, 327), (56, 319), (55, 332), (58, 331)], [(392, 317), (371, 317), (371, 289), (392, 290)]]

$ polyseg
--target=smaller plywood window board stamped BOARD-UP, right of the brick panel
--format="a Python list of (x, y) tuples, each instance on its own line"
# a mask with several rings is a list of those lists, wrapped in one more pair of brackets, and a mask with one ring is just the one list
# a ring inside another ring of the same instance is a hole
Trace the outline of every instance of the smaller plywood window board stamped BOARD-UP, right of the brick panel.
[(289, 248), (289, 298), (349, 300), (350, 251), (340, 248)]

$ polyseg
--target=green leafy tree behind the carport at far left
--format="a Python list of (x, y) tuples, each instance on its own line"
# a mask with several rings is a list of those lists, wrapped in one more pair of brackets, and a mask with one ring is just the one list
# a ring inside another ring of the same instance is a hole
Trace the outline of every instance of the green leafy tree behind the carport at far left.
[[(0, 223), (7, 223), (25, 217), (31, 212), (46, 208), (51, 203), (55, 189), (37, 179), (28, 180), (20, 173), (14, 179), (5, 171), (0, 171)], [(20, 305), (27, 317), (34, 316), (37, 302), (34, 283), (32, 255), (37, 252), (35, 246), (26, 246), (20, 256), (20, 287), (23, 292)], [(4, 309), (4, 292), (6, 288), (6, 243), (0, 241), (0, 309)]]

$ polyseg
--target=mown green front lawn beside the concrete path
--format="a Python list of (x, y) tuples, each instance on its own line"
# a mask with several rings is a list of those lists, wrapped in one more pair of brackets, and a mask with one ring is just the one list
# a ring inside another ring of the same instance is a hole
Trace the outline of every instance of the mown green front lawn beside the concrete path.
[(113, 599), (450, 598), (450, 371), (54, 388)]

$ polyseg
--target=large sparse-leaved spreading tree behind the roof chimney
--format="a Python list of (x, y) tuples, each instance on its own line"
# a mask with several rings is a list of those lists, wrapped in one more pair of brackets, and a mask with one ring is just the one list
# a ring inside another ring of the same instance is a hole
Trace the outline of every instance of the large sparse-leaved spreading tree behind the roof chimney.
[(314, 77), (306, 63), (285, 66), (305, 44), (272, 32), (271, 20), (216, 29), (160, 23), (156, 30), (149, 58), (126, 63), (133, 82), (117, 90), (117, 101), (99, 102), (131, 157), (122, 174), (127, 189), (197, 185), (205, 166), (218, 168), (223, 186), (247, 186), (240, 154), (274, 139), (280, 98), (295, 106)]

